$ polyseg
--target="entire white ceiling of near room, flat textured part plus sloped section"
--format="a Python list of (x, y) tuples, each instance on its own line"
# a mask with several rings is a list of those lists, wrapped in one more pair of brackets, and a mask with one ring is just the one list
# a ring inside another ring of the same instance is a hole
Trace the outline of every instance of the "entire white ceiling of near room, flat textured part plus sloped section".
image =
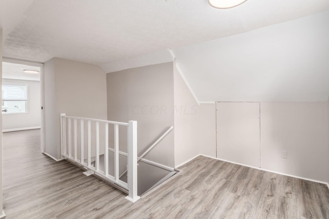
[(199, 101), (317, 101), (329, 94), (326, 10), (327, 0), (248, 0), (226, 10), (207, 0), (2, 0), (0, 27), (6, 57), (112, 72), (169, 62), (171, 49)]

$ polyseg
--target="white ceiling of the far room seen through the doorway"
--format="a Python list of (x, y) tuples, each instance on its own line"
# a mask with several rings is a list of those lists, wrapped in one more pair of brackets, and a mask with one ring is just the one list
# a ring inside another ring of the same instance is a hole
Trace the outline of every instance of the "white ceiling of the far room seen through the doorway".
[(7, 79), (40, 81), (40, 73), (25, 73), (23, 70), (35, 70), (40, 72), (40, 67), (3, 63), (2, 77)]

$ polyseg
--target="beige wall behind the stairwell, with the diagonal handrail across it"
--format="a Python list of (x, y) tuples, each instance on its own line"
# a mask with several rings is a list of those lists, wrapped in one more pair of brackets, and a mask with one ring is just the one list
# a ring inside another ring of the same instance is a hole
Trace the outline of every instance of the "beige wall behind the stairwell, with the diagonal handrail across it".
[[(142, 154), (174, 125), (173, 63), (132, 68), (107, 74), (108, 120), (138, 126), (138, 154)], [(120, 138), (120, 150), (126, 138)], [(174, 167), (174, 132), (171, 131), (145, 159)]]

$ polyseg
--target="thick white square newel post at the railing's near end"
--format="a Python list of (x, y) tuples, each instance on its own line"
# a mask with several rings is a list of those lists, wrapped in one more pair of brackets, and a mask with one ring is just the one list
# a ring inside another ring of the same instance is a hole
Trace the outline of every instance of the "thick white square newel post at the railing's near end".
[(140, 198), (137, 195), (137, 121), (129, 121), (127, 151), (129, 195), (125, 198), (134, 203)]

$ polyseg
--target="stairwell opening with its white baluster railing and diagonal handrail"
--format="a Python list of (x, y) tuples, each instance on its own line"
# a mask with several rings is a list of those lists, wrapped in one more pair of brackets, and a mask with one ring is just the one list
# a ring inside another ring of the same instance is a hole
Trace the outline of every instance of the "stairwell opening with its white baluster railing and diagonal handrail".
[(174, 168), (143, 158), (172, 129), (138, 157), (136, 121), (121, 123), (61, 114), (62, 158), (86, 170), (85, 175), (95, 175), (127, 193), (126, 199), (134, 203), (176, 173)]

